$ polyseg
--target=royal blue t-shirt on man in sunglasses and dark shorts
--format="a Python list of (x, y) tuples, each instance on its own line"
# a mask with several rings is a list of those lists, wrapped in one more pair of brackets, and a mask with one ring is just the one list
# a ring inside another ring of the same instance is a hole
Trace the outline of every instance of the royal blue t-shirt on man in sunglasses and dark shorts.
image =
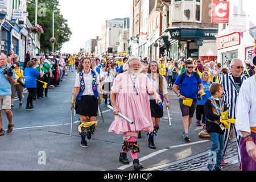
[[(198, 73), (195, 73), (195, 72), (193, 73), (198, 75)], [(182, 81), (181, 88), (180, 88), (180, 94), (183, 95), (185, 98), (193, 98), (194, 100), (197, 100), (197, 97), (196, 97), (197, 86), (202, 83), (202, 80), (198, 75), (198, 82), (197, 82), (197, 79), (193, 73), (189, 77), (187, 76), (187, 72), (185, 72), (185, 77), (184, 77), (184, 80)], [(175, 85), (180, 85), (181, 75), (182, 74), (180, 74), (177, 77), (176, 81), (174, 82)], [(181, 101), (181, 99), (179, 101)]]

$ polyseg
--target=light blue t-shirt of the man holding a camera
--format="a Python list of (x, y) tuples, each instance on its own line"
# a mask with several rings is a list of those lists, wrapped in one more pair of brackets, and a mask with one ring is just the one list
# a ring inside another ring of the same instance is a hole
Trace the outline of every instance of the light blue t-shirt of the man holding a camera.
[[(5, 74), (3, 74), (3, 72), (5, 70), (8, 70), (7, 67), (2, 68), (0, 66), (0, 96), (9, 96), (11, 95), (11, 82), (8, 78), (5, 77)], [(14, 70), (13, 72), (13, 78), (16, 79)]]

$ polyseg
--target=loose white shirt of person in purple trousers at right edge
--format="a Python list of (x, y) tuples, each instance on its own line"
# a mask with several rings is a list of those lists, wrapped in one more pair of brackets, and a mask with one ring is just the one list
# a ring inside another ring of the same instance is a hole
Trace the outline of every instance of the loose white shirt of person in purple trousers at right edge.
[(255, 75), (243, 81), (240, 88), (237, 113), (236, 130), (241, 136), (241, 131), (251, 133), (250, 127), (256, 127), (256, 81)]

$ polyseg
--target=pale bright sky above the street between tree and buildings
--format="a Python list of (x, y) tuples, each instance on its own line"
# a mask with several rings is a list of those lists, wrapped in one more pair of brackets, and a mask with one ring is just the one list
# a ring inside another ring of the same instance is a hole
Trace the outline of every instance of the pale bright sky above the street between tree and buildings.
[(77, 53), (86, 40), (101, 38), (105, 20), (129, 18), (133, 0), (60, 0), (60, 10), (71, 28), (71, 40), (63, 44), (62, 53)]

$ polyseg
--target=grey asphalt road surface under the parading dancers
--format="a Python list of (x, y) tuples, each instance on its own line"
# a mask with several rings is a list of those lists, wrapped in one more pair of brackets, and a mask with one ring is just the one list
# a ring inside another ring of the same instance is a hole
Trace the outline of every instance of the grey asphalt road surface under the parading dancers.
[[(74, 117), (73, 135), (69, 136), (69, 103), (74, 83), (75, 73), (69, 73), (65, 81), (60, 82), (60, 87), (49, 89), (48, 97), (34, 101), (35, 109), (32, 111), (25, 110), (27, 93), (24, 93), (22, 107), (18, 106), (18, 101), (14, 102), (14, 131), (0, 137), (0, 170), (133, 170), (131, 163), (123, 165), (118, 161), (122, 135), (108, 133), (114, 115), (104, 103), (101, 108), (105, 122), (98, 117), (96, 133), (88, 140), (89, 148), (80, 146), (76, 122), (78, 116)], [(162, 119), (158, 136), (155, 137), (156, 150), (148, 148), (146, 133), (142, 133), (142, 138), (138, 140), (141, 148), (138, 158), (144, 169), (173, 170), (162, 165), (177, 164), (207, 152), (211, 146), (209, 140), (198, 137), (202, 127), (196, 126), (195, 119), (189, 129), (191, 142), (185, 142), (178, 99), (172, 90), (169, 97), (172, 126), (168, 125), (167, 119)], [(167, 117), (165, 111), (164, 117)], [(7, 126), (5, 114), (3, 126)], [(44, 160), (41, 160), (44, 154), (46, 164), (42, 164)], [(130, 155), (128, 159), (132, 162)], [(185, 170), (192, 169), (195, 168)]]

